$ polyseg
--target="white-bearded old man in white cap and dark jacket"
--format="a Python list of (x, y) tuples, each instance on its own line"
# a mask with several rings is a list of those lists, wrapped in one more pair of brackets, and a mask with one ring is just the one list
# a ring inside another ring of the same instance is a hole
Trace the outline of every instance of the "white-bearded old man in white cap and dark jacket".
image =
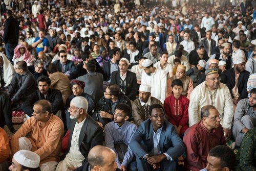
[(76, 96), (70, 102), (70, 134), (68, 154), (58, 163), (56, 171), (79, 167), (88, 160), (89, 150), (95, 145), (102, 145), (103, 131), (97, 122), (87, 113), (88, 102), (82, 96)]

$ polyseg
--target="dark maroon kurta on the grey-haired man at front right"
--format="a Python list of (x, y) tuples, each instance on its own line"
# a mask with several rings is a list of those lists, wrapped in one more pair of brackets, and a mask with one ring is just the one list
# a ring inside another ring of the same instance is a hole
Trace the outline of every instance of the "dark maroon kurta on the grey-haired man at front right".
[(185, 167), (192, 171), (199, 171), (206, 167), (207, 156), (212, 148), (217, 145), (226, 145), (222, 126), (209, 131), (202, 120), (187, 129), (183, 142), (186, 149)]

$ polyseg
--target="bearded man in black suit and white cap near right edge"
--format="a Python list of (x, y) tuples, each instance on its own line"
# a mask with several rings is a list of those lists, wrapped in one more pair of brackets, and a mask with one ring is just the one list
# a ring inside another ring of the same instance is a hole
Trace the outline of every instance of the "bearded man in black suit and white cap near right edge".
[(247, 97), (246, 87), (250, 72), (245, 70), (245, 59), (243, 57), (235, 58), (233, 63), (234, 67), (225, 70), (224, 75), (226, 76), (226, 85), (232, 96), (233, 104), (237, 106), (241, 99)]

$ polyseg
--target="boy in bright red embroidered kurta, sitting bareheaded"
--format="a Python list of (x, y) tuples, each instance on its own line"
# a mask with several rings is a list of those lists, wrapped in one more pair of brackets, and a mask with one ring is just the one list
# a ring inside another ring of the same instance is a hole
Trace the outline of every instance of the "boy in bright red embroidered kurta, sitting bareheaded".
[(163, 104), (167, 120), (173, 124), (177, 133), (183, 137), (184, 132), (188, 128), (188, 106), (189, 100), (182, 95), (183, 83), (179, 79), (172, 82), (173, 94), (168, 96)]

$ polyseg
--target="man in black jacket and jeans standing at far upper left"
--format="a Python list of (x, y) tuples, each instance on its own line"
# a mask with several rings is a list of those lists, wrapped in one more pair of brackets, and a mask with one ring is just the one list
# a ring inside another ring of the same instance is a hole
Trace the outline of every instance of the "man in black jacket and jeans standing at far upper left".
[(13, 50), (18, 45), (19, 26), (17, 20), (12, 16), (11, 10), (6, 10), (6, 16), (3, 42), (5, 43), (6, 56), (13, 64)]

